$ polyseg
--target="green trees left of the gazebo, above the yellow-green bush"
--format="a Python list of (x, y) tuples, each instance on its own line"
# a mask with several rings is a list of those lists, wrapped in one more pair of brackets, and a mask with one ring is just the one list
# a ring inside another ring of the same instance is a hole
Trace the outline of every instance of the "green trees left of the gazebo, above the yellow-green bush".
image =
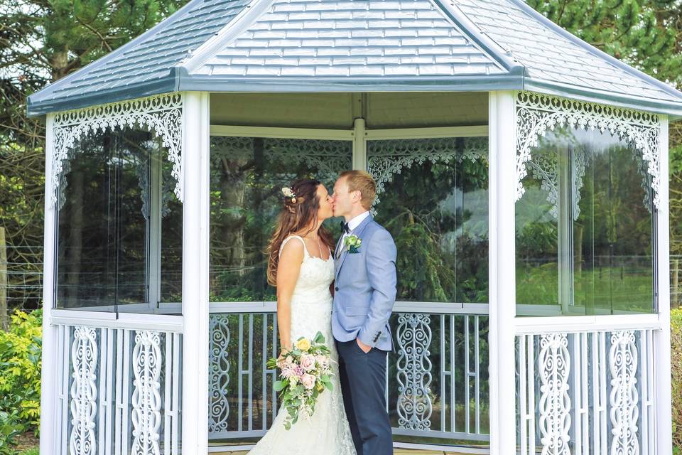
[[(6, 229), (10, 245), (10, 269), (15, 268), (11, 277), (30, 277), (37, 291), (30, 302), (11, 300), (14, 306), (38, 305), (42, 269), (45, 127), (26, 117), (26, 96), (127, 43), (184, 3), (4, 0), (0, 4), (0, 226)], [(10, 282), (10, 288), (16, 284)]]

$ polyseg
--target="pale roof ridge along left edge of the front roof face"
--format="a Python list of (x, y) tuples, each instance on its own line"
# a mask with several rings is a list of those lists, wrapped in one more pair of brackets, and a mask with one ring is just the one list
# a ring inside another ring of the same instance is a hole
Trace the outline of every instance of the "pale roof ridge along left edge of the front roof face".
[(216, 49), (228, 45), (244, 31), (247, 31), (274, 1), (251, 0), (251, 3), (245, 6), (237, 16), (234, 16), (232, 21), (226, 23), (214, 36), (208, 38), (202, 45), (197, 47), (188, 58), (180, 60), (180, 63), (175, 66), (184, 68), (188, 73), (192, 73), (193, 70), (200, 68), (201, 65), (215, 55)]

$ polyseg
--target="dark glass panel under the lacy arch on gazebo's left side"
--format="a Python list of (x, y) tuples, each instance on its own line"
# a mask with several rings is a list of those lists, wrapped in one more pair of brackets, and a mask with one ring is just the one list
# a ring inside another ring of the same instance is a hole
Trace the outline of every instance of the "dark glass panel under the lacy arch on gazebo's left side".
[[(159, 255), (162, 232), (171, 249), (182, 245), (182, 205), (163, 161), (161, 139), (136, 129), (90, 134), (72, 148), (58, 195), (58, 308), (153, 312), (160, 292), (179, 289), (181, 254)], [(161, 181), (164, 191), (152, 191)]]

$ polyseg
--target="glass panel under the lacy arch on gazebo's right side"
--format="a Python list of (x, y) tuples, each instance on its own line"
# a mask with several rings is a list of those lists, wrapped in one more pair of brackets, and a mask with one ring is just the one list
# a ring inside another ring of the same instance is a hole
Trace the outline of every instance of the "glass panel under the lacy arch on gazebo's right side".
[(516, 203), (520, 315), (654, 310), (650, 176), (608, 132), (558, 129), (532, 151)]

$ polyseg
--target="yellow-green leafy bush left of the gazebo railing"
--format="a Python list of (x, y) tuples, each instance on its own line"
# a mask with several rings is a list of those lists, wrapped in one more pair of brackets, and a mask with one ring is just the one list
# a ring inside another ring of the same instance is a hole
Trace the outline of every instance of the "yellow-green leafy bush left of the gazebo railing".
[(16, 311), (0, 331), (0, 455), (14, 453), (17, 434), (38, 432), (42, 323), (40, 310)]

